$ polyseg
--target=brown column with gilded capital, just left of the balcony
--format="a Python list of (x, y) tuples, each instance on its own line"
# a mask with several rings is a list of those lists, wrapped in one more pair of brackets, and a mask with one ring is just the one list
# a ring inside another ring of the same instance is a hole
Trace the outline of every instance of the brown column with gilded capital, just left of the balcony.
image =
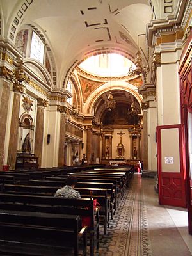
[[(65, 132), (66, 132), (66, 109), (63, 106), (58, 106), (58, 111), (61, 113), (60, 120), (60, 142), (59, 142), (59, 153), (58, 153), (58, 166), (63, 167), (64, 156), (65, 156)], [(79, 151), (80, 154), (80, 151)]]

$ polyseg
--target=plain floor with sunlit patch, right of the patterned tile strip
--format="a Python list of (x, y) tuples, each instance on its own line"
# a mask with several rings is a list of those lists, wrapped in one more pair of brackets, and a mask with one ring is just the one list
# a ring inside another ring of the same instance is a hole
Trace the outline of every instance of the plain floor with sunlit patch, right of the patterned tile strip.
[(192, 236), (188, 235), (186, 209), (159, 205), (154, 179), (141, 179), (141, 175), (134, 175), (133, 182), (140, 182), (143, 190), (152, 255), (192, 255)]

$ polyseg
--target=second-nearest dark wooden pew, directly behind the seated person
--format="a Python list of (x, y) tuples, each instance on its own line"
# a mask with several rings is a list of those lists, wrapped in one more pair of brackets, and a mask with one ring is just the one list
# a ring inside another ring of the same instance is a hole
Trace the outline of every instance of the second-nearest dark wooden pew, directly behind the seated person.
[[(0, 193), (0, 209), (89, 216), (91, 223), (88, 227), (90, 255), (94, 255), (95, 247), (99, 248), (99, 211), (93, 209), (93, 200), (90, 200), (90, 198), (65, 199)], [(94, 239), (94, 236), (96, 236), (96, 239)]]

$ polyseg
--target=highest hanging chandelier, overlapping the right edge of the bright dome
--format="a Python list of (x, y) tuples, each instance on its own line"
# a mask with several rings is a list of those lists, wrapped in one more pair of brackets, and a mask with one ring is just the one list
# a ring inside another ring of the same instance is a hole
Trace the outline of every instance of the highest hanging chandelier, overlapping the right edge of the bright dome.
[[(140, 34), (138, 35), (138, 49), (140, 49), (139, 47), (139, 36), (143, 36), (145, 34)], [(141, 51), (143, 52), (143, 50), (141, 49)], [(147, 61), (147, 65), (143, 64), (142, 58), (141, 58), (141, 52), (140, 50), (138, 50), (138, 52), (136, 52), (136, 58), (134, 59), (134, 65), (136, 65), (136, 68), (132, 68), (132, 65), (130, 66), (127, 75), (128, 76), (140, 76), (143, 75), (144, 78), (144, 83), (146, 83), (147, 81), (147, 74), (150, 71), (149, 66), (148, 66), (148, 58), (146, 58), (144, 52), (143, 55), (145, 57), (145, 60)]]

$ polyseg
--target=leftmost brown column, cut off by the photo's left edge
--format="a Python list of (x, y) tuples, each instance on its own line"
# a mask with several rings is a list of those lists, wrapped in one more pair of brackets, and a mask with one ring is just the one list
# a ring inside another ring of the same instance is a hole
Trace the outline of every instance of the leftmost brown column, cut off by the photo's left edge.
[(10, 97), (10, 84), (1, 80), (1, 99), (0, 99), (0, 170), (4, 161), (4, 141), (6, 136), (6, 121), (8, 116), (8, 102)]

